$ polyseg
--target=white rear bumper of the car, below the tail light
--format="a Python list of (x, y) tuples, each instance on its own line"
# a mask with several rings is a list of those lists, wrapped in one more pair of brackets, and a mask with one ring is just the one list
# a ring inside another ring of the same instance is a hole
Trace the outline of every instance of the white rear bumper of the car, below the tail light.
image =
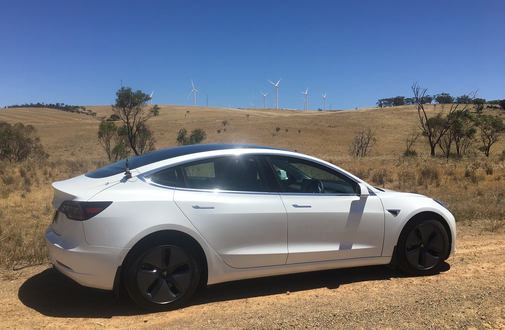
[(45, 232), (49, 260), (80, 285), (113, 290), (116, 272), (129, 249), (97, 247), (57, 235), (52, 226)]

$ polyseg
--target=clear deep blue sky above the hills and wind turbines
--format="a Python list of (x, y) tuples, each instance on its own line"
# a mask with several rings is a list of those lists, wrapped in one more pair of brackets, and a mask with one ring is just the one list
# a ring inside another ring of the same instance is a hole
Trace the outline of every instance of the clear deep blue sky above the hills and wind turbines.
[(428, 94), (505, 99), (503, 1), (5, 1), (0, 107), (155, 104), (354, 109)]

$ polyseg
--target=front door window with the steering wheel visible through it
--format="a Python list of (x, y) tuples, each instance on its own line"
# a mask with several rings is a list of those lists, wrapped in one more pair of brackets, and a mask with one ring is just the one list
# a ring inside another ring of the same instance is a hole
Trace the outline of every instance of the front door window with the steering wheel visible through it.
[(356, 181), (324, 165), (284, 156), (269, 156), (268, 160), (285, 193), (356, 194)]

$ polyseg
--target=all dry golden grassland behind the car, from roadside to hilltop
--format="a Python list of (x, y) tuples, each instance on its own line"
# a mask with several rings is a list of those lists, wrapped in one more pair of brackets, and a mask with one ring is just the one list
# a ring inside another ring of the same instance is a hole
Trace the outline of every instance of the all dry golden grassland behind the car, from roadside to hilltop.
[[(448, 106), (445, 106), (448, 111)], [(160, 115), (148, 124), (156, 148), (176, 146), (179, 129), (203, 128), (205, 143), (245, 143), (296, 150), (330, 161), (362, 179), (386, 188), (427, 195), (446, 203), (459, 225), (481, 231), (505, 226), (505, 136), (483, 157), (476, 140), (462, 159), (429, 157), (421, 137), (412, 149), (419, 156), (403, 157), (406, 138), (417, 125), (415, 106), (366, 108), (339, 112), (275, 109), (223, 109), (161, 105)], [(86, 106), (97, 117), (112, 114), (110, 106)], [(429, 115), (441, 111), (431, 105)], [(501, 110), (484, 113), (500, 115)], [(249, 115), (246, 117), (246, 115)], [(226, 120), (227, 125), (222, 122)], [(0, 162), (0, 271), (9, 277), (13, 266), (46, 261), (43, 232), (51, 223), (53, 181), (66, 179), (106, 164), (97, 140), (100, 121), (83, 114), (54, 109), (0, 109), (0, 121), (22, 122), (37, 129), (45, 151), (44, 162)], [(276, 132), (276, 127), (280, 130)], [(371, 156), (348, 156), (355, 132), (375, 131), (377, 146)], [(218, 133), (218, 130), (221, 130)]]

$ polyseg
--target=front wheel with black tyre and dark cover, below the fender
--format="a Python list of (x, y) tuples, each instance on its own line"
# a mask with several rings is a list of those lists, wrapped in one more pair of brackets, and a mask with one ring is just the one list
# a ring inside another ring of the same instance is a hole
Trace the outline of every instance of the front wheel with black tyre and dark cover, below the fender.
[(410, 221), (398, 239), (398, 266), (413, 275), (435, 274), (440, 271), (448, 249), (447, 231), (440, 222)]

